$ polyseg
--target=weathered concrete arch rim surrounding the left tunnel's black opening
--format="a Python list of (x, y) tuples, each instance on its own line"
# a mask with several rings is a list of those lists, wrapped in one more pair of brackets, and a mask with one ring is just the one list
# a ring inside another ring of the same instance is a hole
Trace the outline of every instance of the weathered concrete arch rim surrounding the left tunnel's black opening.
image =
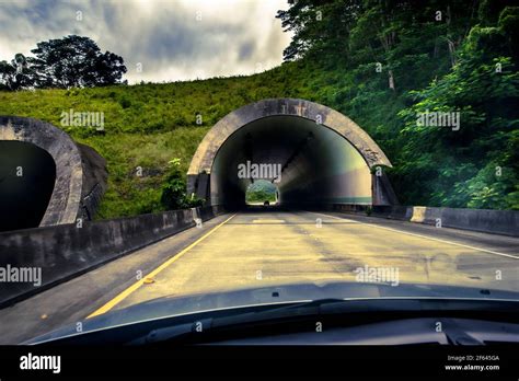
[[(76, 143), (67, 132), (49, 123), (28, 117), (0, 116), (0, 143), (8, 147), (13, 142), (24, 143), (44, 151), (51, 159), (50, 162), (54, 162), (55, 178), (39, 223), (3, 230), (73, 223), (78, 218), (92, 219), (106, 189), (107, 180), (106, 161), (95, 150)], [(21, 146), (23, 145), (16, 147)], [(13, 152), (16, 153), (15, 151)], [(5, 152), (0, 153), (5, 154)], [(23, 155), (23, 152), (21, 154)], [(11, 160), (11, 162), (15, 161)], [(31, 161), (25, 162), (31, 165)], [(0, 166), (0, 180), (4, 181), (3, 184), (13, 184), (11, 180), (16, 174), (15, 168), (11, 166)], [(35, 171), (33, 170), (33, 172)], [(20, 181), (24, 181), (23, 176)], [(0, 192), (9, 194), (7, 187), (0, 183)], [(39, 190), (37, 187), (30, 188), (28, 184), (22, 185), (20, 189), (25, 193), (24, 197), (26, 198)], [(0, 203), (0, 207), (5, 208), (9, 201), (9, 199), (2, 200), (3, 204)], [(30, 211), (25, 210), (25, 212)], [(30, 216), (27, 216), (28, 219)]]

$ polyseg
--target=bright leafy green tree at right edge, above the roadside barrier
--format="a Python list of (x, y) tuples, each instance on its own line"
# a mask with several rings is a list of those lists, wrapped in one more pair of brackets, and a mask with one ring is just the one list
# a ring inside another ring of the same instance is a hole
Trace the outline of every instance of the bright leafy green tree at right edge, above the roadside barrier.
[[(519, 8), (506, 8), (496, 26), (473, 26), (453, 69), (412, 92), (417, 102), (400, 113), (407, 124), (395, 175), (405, 188), (415, 189), (412, 201), (518, 207), (519, 62), (509, 35), (519, 26), (516, 14)], [(461, 128), (418, 127), (416, 115), (426, 111), (457, 111)]]

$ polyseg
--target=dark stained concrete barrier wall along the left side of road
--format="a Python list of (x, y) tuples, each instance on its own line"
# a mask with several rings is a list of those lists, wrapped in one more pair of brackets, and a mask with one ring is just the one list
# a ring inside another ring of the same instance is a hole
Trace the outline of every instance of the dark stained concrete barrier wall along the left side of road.
[[(0, 233), (0, 307), (192, 228), (196, 216), (206, 221), (220, 212), (214, 206)], [(13, 272), (21, 268), (25, 276), (39, 268), (41, 285), (13, 281)]]

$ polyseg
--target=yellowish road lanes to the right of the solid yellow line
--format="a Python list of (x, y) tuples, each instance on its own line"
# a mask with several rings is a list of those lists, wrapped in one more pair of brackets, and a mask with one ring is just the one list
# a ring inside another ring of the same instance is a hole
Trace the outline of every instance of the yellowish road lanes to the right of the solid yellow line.
[(359, 268), (397, 270), (395, 286), (519, 290), (517, 239), (452, 229), (440, 234), (434, 227), (389, 222), (312, 212), (239, 213), (111, 308), (245, 287), (356, 281)]

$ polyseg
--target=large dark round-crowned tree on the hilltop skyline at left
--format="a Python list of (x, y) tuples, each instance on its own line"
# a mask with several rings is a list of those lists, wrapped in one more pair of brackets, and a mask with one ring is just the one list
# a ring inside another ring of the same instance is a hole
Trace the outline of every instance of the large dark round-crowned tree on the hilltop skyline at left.
[(123, 57), (102, 53), (89, 37), (70, 35), (49, 39), (31, 50), (27, 64), (37, 88), (84, 88), (120, 83), (127, 71)]

